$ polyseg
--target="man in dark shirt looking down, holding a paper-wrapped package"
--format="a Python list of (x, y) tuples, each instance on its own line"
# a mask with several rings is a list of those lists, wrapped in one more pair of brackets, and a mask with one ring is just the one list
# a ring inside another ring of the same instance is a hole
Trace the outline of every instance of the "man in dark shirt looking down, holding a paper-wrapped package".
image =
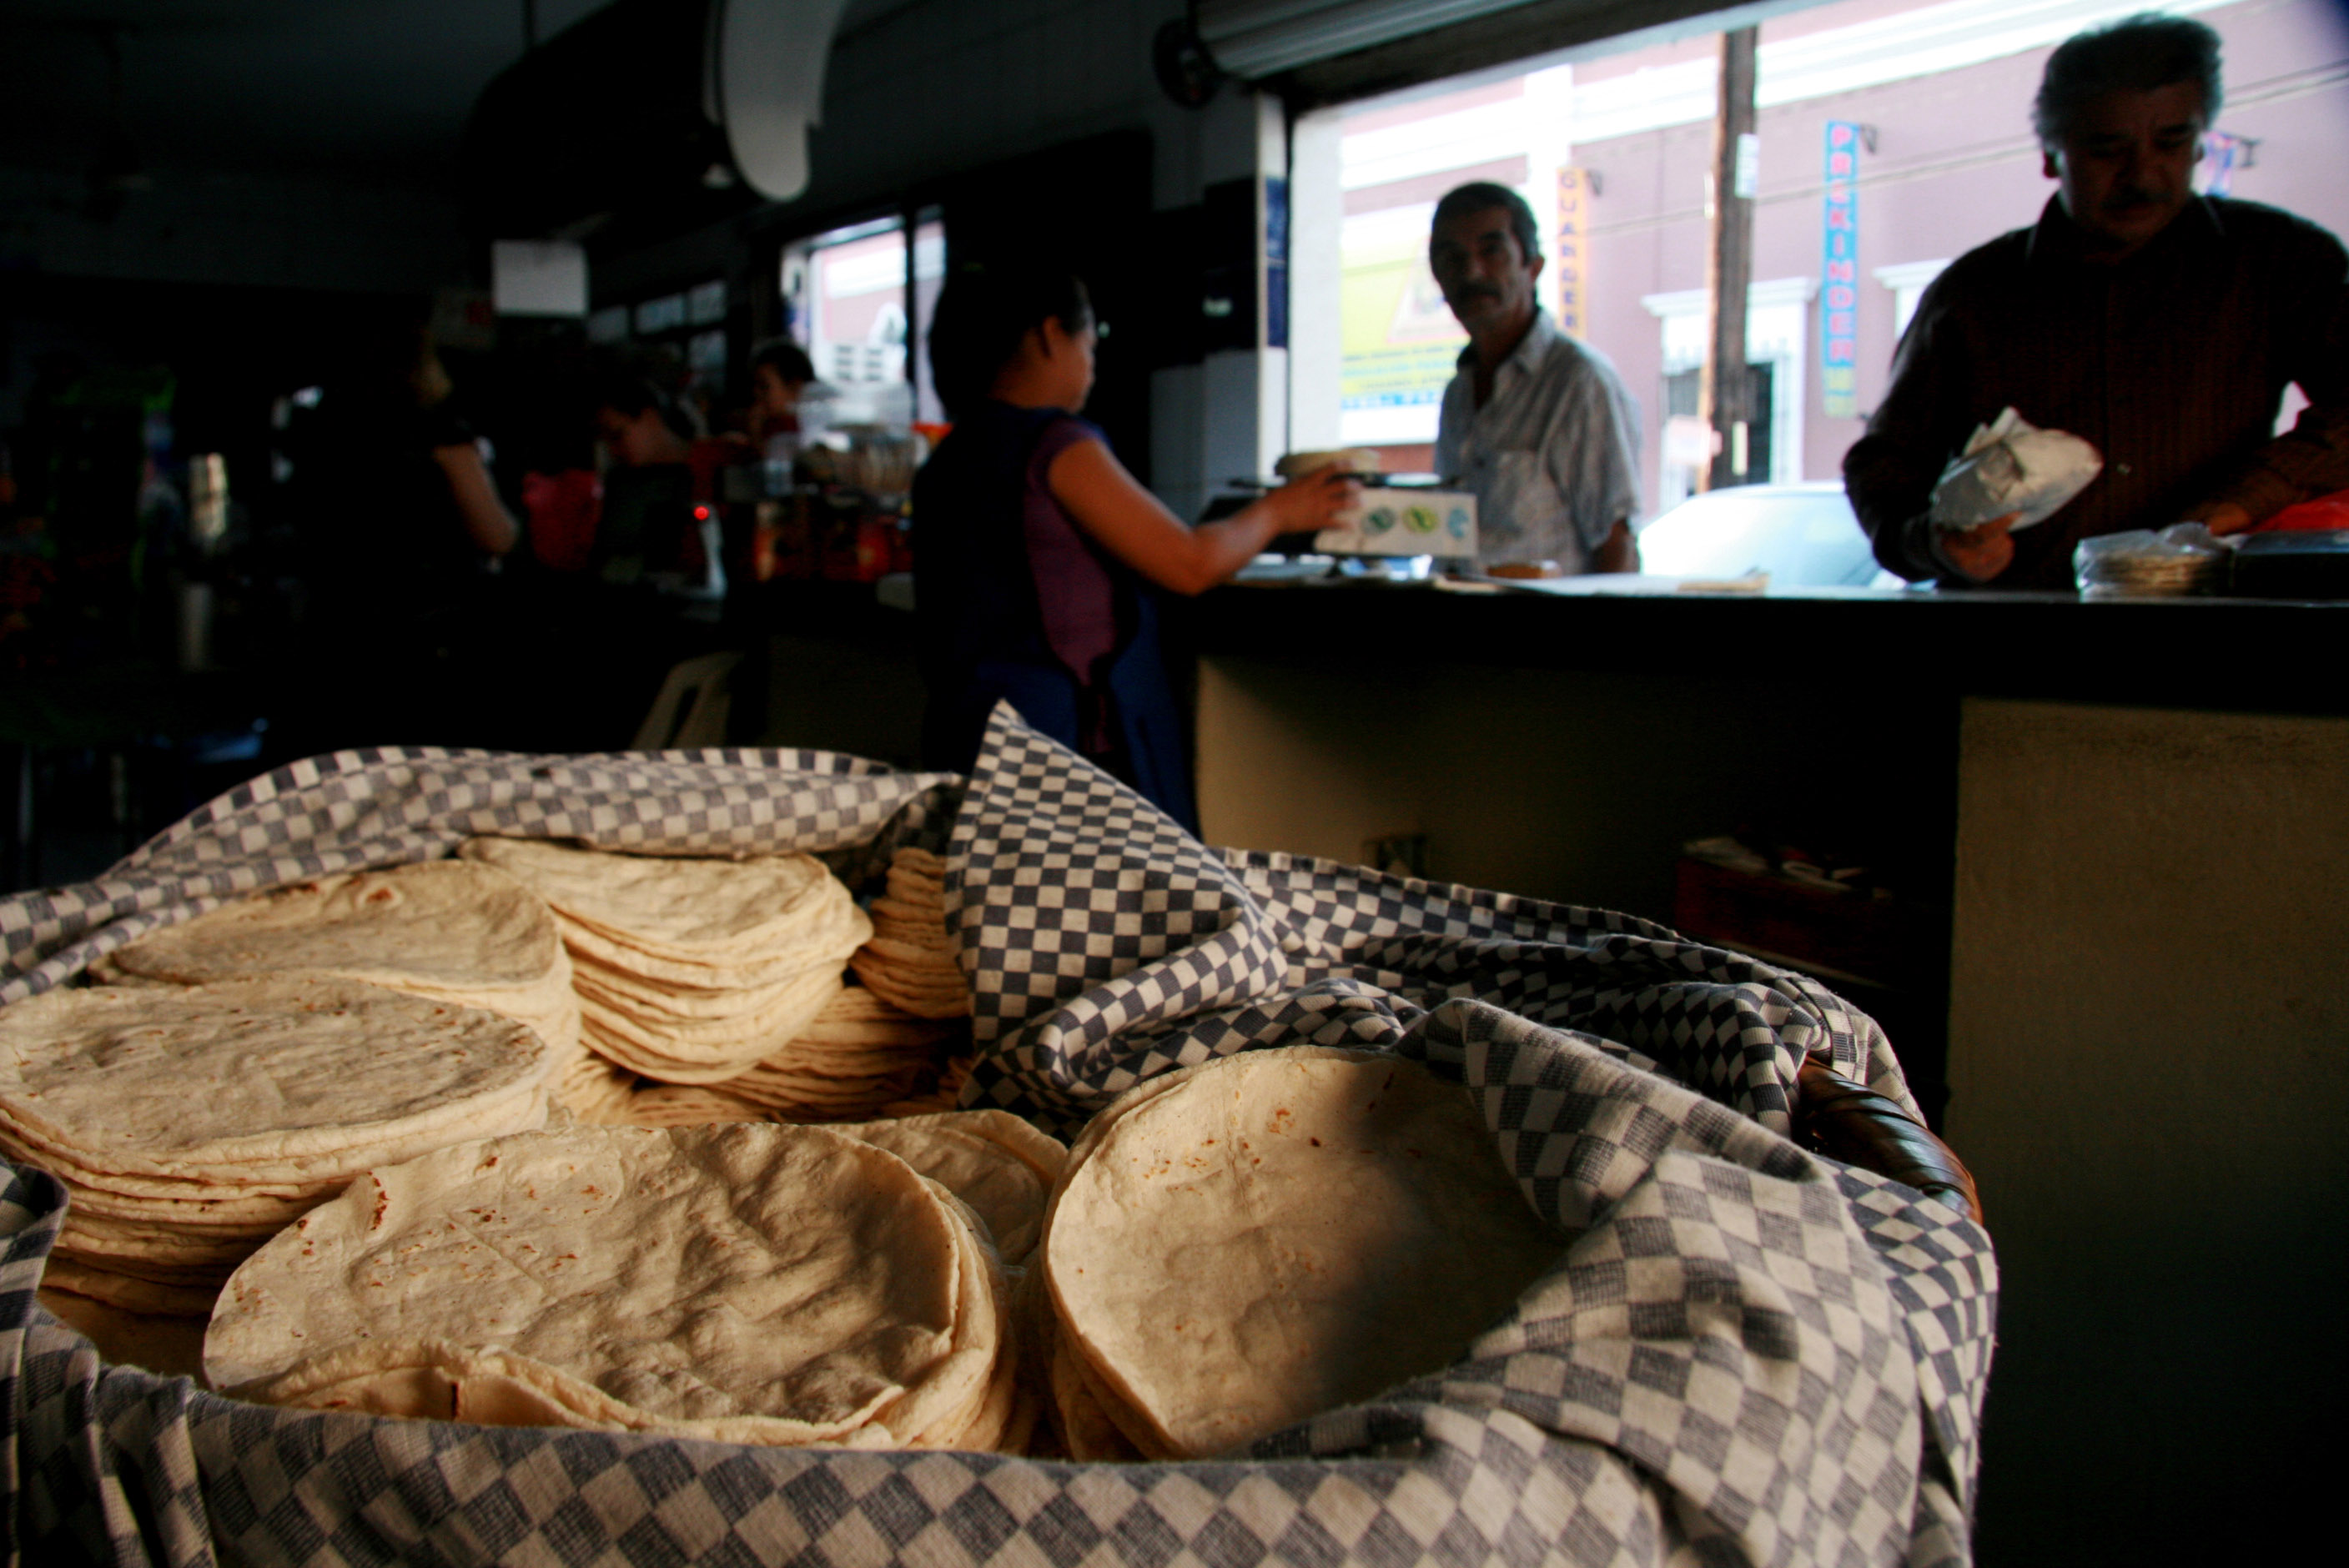
[[(1884, 566), (2069, 589), (2084, 538), (2239, 533), (2349, 488), (2349, 256), (2274, 207), (2194, 195), (2217, 106), (2217, 33), (2199, 21), (2131, 16), (2048, 56), (2032, 122), (2055, 197), (1933, 279), (1844, 455)], [(2309, 408), (2279, 439), (2293, 383)], [(2006, 406), (2084, 437), (2105, 472), (2030, 530), (1936, 528), (1933, 484)]]

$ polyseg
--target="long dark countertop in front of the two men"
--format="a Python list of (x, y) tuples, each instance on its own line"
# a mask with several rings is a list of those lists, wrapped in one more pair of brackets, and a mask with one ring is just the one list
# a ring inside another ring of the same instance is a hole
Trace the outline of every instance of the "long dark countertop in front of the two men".
[(2349, 714), (2349, 603), (1776, 589), (1689, 594), (1597, 577), (1499, 592), (1231, 584), (1189, 613), (1205, 657), (1736, 674), (1788, 685)]

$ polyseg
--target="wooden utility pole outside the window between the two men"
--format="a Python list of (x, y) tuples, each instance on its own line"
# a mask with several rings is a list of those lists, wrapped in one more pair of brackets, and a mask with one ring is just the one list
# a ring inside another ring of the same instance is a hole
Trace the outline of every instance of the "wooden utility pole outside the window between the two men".
[(1696, 411), (1712, 427), (1712, 467), (1701, 488), (1748, 481), (1752, 453), (1752, 373), (1745, 369), (1745, 289), (1755, 272), (1755, 183), (1762, 138), (1755, 134), (1755, 28), (1722, 33), (1722, 94), (1712, 117), (1712, 340), (1698, 380)]

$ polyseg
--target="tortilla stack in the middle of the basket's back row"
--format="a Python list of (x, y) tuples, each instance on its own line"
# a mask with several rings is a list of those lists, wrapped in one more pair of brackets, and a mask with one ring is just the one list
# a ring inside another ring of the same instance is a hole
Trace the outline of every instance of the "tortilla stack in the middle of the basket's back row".
[(792, 1042), (871, 934), (806, 854), (665, 859), (526, 838), (474, 838), (463, 854), (554, 908), (587, 1047), (672, 1084), (726, 1082)]

